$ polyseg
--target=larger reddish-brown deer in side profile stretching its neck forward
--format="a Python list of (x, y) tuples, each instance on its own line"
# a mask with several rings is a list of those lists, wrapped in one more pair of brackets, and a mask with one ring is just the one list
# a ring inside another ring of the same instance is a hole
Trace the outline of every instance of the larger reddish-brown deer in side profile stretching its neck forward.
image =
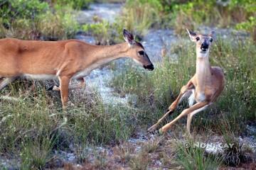
[(132, 33), (123, 31), (126, 42), (117, 45), (90, 45), (80, 40), (32, 41), (6, 38), (0, 40), (0, 90), (17, 77), (60, 81), (63, 108), (68, 102), (68, 84), (84, 79), (92, 69), (121, 57), (130, 57), (144, 69), (154, 65)]

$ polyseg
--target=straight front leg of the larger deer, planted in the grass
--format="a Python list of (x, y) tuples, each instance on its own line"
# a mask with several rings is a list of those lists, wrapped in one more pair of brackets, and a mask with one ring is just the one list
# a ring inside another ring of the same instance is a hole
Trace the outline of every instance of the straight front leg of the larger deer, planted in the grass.
[(67, 107), (68, 103), (68, 84), (70, 81), (70, 77), (59, 77), (60, 79), (60, 95), (61, 102), (63, 104), (63, 108)]

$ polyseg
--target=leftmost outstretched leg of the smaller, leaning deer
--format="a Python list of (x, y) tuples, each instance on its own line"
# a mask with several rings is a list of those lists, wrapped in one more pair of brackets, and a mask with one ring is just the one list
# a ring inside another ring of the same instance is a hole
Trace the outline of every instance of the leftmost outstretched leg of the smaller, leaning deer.
[(169, 115), (169, 113), (172, 113), (175, 108), (177, 107), (178, 103), (181, 102), (182, 96), (188, 91), (188, 89), (191, 89), (193, 87), (193, 83), (192, 81), (188, 81), (188, 84), (186, 84), (185, 86), (182, 86), (181, 88), (181, 92), (180, 94), (178, 94), (178, 97), (176, 98), (176, 100), (171, 103), (171, 106), (169, 106), (168, 111), (164, 114), (164, 116), (162, 118), (160, 118), (156, 124), (152, 125), (148, 131), (149, 132), (154, 132), (154, 130), (156, 130), (156, 128), (159, 126), (159, 124), (164, 120), (164, 118), (166, 118), (167, 115)]

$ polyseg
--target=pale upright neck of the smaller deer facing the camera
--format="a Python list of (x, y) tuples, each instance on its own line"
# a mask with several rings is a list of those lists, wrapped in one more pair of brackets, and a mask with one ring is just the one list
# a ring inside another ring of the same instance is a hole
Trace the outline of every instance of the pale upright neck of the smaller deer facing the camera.
[(198, 57), (196, 58), (196, 81), (198, 90), (204, 90), (206, 86), (206, 82), (210, 77), (210, 63), (209, 57), (206, 55), (205, 57)]

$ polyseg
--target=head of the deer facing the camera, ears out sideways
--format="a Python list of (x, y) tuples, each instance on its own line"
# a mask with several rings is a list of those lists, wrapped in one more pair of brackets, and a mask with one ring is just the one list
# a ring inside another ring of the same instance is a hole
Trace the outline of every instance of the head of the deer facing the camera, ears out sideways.
[(215, 31), (212, 30), (209, 34), (200, 34), (193, 31), (188, 31), (188, 35), (193, 42), (196, 42), (196, 55), (198, 57), (207, 57), (210, 50), (210, 45), (212, 45)]

